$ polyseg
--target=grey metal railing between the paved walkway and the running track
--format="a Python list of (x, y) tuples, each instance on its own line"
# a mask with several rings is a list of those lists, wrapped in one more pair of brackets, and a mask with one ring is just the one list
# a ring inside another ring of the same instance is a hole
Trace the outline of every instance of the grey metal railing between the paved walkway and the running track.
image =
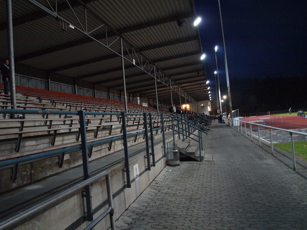
[[(259, 146), (261, 146), (261, 140), (260, 140), (260, 127), (265, 127), (268, 128), (270, 131), (270, 144), (271, 144), (271, 154), (274, 154), (274, 148), (273, 148), (273, 137), (272, 137), (272, 129), (288, 132), (290, 134), (290, 142), (291, 142), (291, 152), (292, 152), (292, 162), (293, 162), (293, 170), (296, 170), (296, 162), (295, 162), (295, 151), (294, 151), (294, 142), (293, 142), (293, 133), (299, 134), (299, 135), (304, 135), (307, 136), (307, 133), (304, 132), (299, 132), (295, 130), (288, 130), (288, 129), (282, 129), (282, 128), (277, 128), (277, 127), (272, 127), (272, 126), (267, 126), (267, 125), (261, 125), (253, 122), (246, 122), (246, 121), (241, 121), (241, 120), (236, 120), (236, 119), (231, 119), (228, 118), (228, 125), (232, 128), (235, 129), (237, 127), (237, 131), (239, 132), (239, 127), (241, 127), (241, 133), (243, 134), (243, 127), (242, 123), (245, 124), (245, 130), (246, 130), (246, 124), (250, 125), (250, 134), (251, 134), (251, 141), (253, 141), (253, 134), (252, 134), (252, 125), (257, 126), (257, 131), (258, 131), (258, 141), (259, 141)], [(238, 123), (240, 125), (235, 125)], [(245, 131), (245, 135), (247, 137), (247, 131)]]

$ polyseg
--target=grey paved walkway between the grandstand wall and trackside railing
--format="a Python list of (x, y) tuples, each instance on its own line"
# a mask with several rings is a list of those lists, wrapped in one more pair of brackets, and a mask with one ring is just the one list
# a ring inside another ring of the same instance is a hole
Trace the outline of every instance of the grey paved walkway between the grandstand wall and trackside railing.
[(307, 229), (307, 164), (212, 121), (211, 162), (166, 167), (116, 221), (118, 229)]

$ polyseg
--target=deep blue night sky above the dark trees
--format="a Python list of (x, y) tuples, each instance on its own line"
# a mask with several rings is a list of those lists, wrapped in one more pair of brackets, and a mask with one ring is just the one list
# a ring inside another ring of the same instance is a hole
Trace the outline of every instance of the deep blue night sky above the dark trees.
[[(220, 2), (230, 87), (233, 77), (307, 76), (307, 0)], [(194, 4), (196, 15), (202, 17), (199, 31), (206, 54), (207, 78), (213, 83), (217, 45), (220, 83), (225, 85), (218, 1), (194, 0)]]

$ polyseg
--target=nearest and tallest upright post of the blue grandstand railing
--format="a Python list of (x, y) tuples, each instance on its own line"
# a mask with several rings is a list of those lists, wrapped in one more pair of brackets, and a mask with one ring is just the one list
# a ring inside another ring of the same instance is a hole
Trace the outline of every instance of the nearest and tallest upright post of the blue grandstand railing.
[[(90, 167), (89, 167), (89, 154), (87, 153), (87, 140), (86, 140), (86, 124), (85, 124), (85, 111), (79, 111), (80, 120), (80, 134), (81, 134), (81, 151), (82, 151), (82, 162), (83, 162), (83, 178), (84, 180), (90, 178)], [(84, 187), (85, 189), (85, 200), (86, 200), (86, 220), (93, 221), (93, 208), (92, 208), (92, 195), (91, 185)]]

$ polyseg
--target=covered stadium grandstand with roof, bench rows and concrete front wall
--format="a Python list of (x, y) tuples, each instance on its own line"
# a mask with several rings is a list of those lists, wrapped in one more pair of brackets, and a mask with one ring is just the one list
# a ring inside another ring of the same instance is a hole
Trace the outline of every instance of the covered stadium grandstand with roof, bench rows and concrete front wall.
[(0, 229), (115, 229), (179, 154), (204, 159), (193, 0), (2, 3)]

